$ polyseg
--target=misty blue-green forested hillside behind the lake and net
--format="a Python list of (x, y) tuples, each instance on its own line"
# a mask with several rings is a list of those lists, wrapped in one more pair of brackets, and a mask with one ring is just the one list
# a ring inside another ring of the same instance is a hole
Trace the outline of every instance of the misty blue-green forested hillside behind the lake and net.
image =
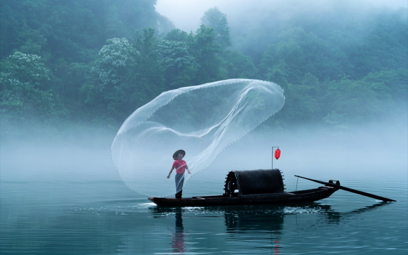
[(282, 2), (232, 21), (213, 7), (187, 33), (156, 0), (1, 0), (2, 139), (115, 130), (163, 91), (230, 78), (285, 89), (267, 129), (350, 129), (406, 113), (407, 9)]

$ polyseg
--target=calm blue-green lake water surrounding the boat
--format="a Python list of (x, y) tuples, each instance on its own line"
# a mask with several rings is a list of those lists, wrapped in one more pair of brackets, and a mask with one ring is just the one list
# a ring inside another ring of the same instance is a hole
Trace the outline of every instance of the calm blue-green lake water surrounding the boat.
[[(346, 187), (397, 202), (340, 190), (327, 199), (293, 206), (163, 208), (126, 188), (110, 162), (109, 147), (2, 146), (0, 252), (407, 254), (406, 151), (397, 155), (402, 163), (392, 160), (392, 165), (375, 155), (348, 162), (350, 158), (328, 160), (324, 155), (293, 160), (291, 153), (282, 149), (281, 159), (273, 163), (284, 172), (287, 191), (321, 186), (298, 180), (296, 174), (340, 180)], [(183, 196), (222, 194), (224, 178), (234, 170), (228, 166), (228, 159), (220, 156), (187, 182)], [(245, 164), (242, 169), (250, 170)]]

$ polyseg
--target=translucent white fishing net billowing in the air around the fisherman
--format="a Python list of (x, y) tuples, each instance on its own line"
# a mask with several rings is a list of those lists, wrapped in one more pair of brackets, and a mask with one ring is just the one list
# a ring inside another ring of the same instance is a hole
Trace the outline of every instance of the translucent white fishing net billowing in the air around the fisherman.
[[(176, 193), (173, 153), (186, 151), (191, 175), (212, 164), (284, 105), (283, 89), (262, 80), (231, 79), (166, 91), (133, 112), (111, 146), (123, 182), (143, 195)], [(239, 159), (237, 159), (239, 160)], [(178, 190), (177, 190), (178, 192)]]

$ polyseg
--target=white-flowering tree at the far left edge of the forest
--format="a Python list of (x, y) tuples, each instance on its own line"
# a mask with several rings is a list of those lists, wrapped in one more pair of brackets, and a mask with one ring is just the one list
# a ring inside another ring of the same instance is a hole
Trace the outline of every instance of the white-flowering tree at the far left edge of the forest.
[(51, 71), (38, 55), (16, 52), (1, 62), (2, 120), (50, 120), (58, 96), (49, 89)]

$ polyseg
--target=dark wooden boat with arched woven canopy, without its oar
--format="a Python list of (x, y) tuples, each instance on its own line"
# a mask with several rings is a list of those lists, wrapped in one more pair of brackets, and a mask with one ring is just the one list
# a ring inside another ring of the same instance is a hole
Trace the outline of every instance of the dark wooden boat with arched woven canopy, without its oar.
[[(330, 180), (329, 183), (333, 183)], [(339, 185), (339, 181), (336, 181)], [(320, 186), (302, 191), (284, 191), (279, 169), (231, 171), (225, 181), (222, 195), (200, 197), (148, 197), (158, 206), (224, 206), (251, 204), (300, 204), (322, 200), (339, 188)]]

